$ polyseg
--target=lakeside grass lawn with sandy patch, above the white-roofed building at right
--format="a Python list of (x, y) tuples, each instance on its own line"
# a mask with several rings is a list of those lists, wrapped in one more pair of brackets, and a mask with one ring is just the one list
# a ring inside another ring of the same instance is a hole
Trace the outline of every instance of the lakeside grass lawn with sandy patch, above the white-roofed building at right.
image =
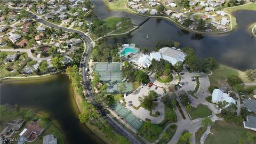
[(255, 83), (255, 81), (251, 82), (245, 77), (244, 71), (224, 65), (220, 65), (219, 68), (213, 70), (212, 72), (213, 74), (209, 76), (211, 86), (226, 86), (227, 78), (232, 75), (240, 77), (244, 83)]

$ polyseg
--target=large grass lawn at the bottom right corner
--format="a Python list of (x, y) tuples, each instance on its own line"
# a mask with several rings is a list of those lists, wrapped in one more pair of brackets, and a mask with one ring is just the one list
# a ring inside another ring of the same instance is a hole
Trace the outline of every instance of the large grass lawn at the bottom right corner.
[(252, 144), (247, 141), (247, 132), (255, 132), (246, 130), (242, 125), (236, 125), (233, 123), (226, 123), (223, 121), (216, 121), (211, 127), (211, 132), (204, 141), (204, 143), (211, 144), (233, 144), (238, 143), (239, 139), (244, 139), (246, 144)]

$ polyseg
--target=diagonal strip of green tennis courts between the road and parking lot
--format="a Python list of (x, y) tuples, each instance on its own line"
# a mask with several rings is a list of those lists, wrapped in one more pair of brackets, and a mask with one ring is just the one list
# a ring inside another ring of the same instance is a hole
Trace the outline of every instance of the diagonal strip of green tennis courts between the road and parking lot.
[(124, 118), (134, 129), (138, 130), (143, 125), (143, 122), (139, 118), (135, 117), (130, 111), (122, 106), (121, 103), (117, 102), (112, 106), (116, 113)]

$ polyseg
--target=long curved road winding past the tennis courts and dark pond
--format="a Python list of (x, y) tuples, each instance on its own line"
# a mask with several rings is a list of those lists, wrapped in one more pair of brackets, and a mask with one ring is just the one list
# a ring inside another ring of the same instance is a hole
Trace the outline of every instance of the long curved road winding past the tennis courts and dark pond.
[[(12, 8), (17, 9), (15, 7), (12, 7)], [(30, 12), (30, 11), (28, 11), (28, 12)], [(42, 18), (37, 17), (37, 15), (35, 15), (34, 13), (31, 13), (31, 12), (30, 12), (30, 18), (33, 18), (37, 22), (43, 23), (44, 25), (46, 25), (48, 27), (53, 27), (55, 29), (60, 29), (61, 28), (63, 31), (67, 31), (69, 33), (78, 33), (79, 36), (81, 36), (84, 39), (84, 41), (87, 44), (86, 45), (87, 49), (86, 49), (86, 52), (83, 54), (84, 59), (81, 61), (82, 62), (81, 63), (82, 64), (81, 65), (81, 67), (82, 67), (82, 75), (83, 75), (84, 85), (85, 85), (85, 89), (87, 91), (88, 99), (93, 103), (93, 96), (94, 96), (94, 94), (92, 92), (89, 79), (87, 78), (87, 71), (85, 70), (85, 68), (87, 68), (87, 63), (88, 63), (88, 60), (89, 60), (88, 55), (89, 55), (89, 52), (91, 51), (91, 47), (92, 47), (92, 40), (91, 40), (91, 38), (89, 36), (87, 36), (85, 33), (83, 33), (82, 31), (75, 30), (75, 29), (69, 29), (69, 28), (66, 28), (66, 27), (57, 26), (57, 25), (55, 25), (55, 24), (53, 24), (51, 22), (48, 22), (46, 20), (43, 20)], [(103, 117), (105, 117), (107, 122), (112, 127), (114, 127), (114, 129), (117, 132), (121, 133), (124, 137), (129, 139), (132, 143), (141, 143), (136, 137), (134, 137), (134, 135), (132, 135), (127, 130), (125, 130), (124, 127), (119, 125), (113, 118), (111, 118), (101, 106), (99, 106), (99, 105), (97, 105), (95, 103), (93, 103), (93, 105), (98, 108), (98, 110), (103, 115)]]

